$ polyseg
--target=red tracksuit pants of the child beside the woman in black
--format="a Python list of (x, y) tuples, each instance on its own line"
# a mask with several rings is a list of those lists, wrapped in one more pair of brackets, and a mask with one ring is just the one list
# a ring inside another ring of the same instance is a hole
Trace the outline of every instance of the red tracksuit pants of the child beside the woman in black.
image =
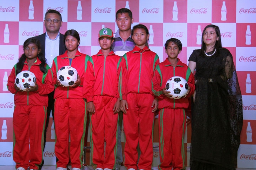
[(164, 108), (159, 111), (159, 170), (185, 169), (184, 134), (186, 115), (184, 109)]

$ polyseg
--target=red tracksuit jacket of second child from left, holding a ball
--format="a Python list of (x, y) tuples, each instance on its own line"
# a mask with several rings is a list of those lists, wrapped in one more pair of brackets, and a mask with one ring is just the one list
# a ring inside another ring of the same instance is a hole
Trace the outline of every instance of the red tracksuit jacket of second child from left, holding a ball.
[[(81, 79), (81, 84), (75, 88), (58, 86), (54, 91), (55, 98), (84, 98), (82, 94), (82, 86), (85, 78), (85, 71), (87, 67), (87, 62), (91, 61), (91, 57), (76, 51), (75, 57), (72, 59), (71, 63), (66, 51), (63, 55), (57, 56), (53, 60), (52, 72), (53, 72), (53, 82), (56, 84), (57, 72), (63, 66), (71, 66), (75, 68)], [(85, 64), (82, 64), (85, 63)]]

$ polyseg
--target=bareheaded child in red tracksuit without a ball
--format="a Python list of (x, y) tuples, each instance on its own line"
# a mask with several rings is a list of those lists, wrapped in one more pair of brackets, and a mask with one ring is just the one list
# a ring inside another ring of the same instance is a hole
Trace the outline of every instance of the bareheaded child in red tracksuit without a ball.
[[(154, 113), (158, 102), (152, 92), (151, 80), (158, 55), (146, 46), (149, 39), (148, 28), (142, 24), (133, 27), (132, 39), (136, 46), (122, 58), (122, 72), (120, 100), (123, 111), (124, 133), (126, 143), (124, 147), (124, 165), (127, 169), (151, 170), (153, 163), (152, 129)], [(140, 158), (137, 166), (138, 151)]]

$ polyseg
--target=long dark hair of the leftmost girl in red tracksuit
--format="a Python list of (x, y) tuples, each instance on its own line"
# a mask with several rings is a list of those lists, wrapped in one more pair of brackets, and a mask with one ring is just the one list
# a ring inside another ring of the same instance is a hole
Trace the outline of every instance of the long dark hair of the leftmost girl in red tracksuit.
[[(25, 47), (28, 46), (29, 44), (35, 44), (38, 48), (38, 50), (40, 50), (40, 53), (37, 55), (37, 57), (39, 58), (39, 60), (41, 61), (41, 64), (39, 65), (39, 68), (41, 70), (41, 72), (43, 72), (44, 74), (46, 73), (46, 58), (43, 56), (43, 53), (42, 53), (42, 49), (41, 49), (41, 45), (40, 45), (40, 42), (38, 39), (36, 38), (28, 38), (24, 44), (23, 44), (23, 50), (25, 50)], [(26, 61), (27, 57), (25, 56), (25, 53), (23, 53), (18, 61), (18, 63), (16, 64), (16, 75), (18, 73), (21, 72), (23, 66), (24, 66), (24, 63)]]

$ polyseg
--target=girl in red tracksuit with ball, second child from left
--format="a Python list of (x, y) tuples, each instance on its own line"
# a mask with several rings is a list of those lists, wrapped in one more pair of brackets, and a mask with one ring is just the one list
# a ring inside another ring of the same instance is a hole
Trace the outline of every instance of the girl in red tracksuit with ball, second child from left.
[[(64, 35), (67, 51), (53, 60), (53, 82), (57, 86), (54, 91), (54, 126), (55, 126), (55, 155), (58, 158), (57, 170), (66, 170), (70, 160), (72, 170), (82, 168), (82, 152), (86, 128), (86, 101), (82, 94), (84, 73), (90, 56), (78, 51), (80, 44), (79, 33), (67, 30)], [(74, 85), (64, 87), (57, 80), (57, 72), (63, 66), (71, 66), (78, 72), (78, 80)]]

